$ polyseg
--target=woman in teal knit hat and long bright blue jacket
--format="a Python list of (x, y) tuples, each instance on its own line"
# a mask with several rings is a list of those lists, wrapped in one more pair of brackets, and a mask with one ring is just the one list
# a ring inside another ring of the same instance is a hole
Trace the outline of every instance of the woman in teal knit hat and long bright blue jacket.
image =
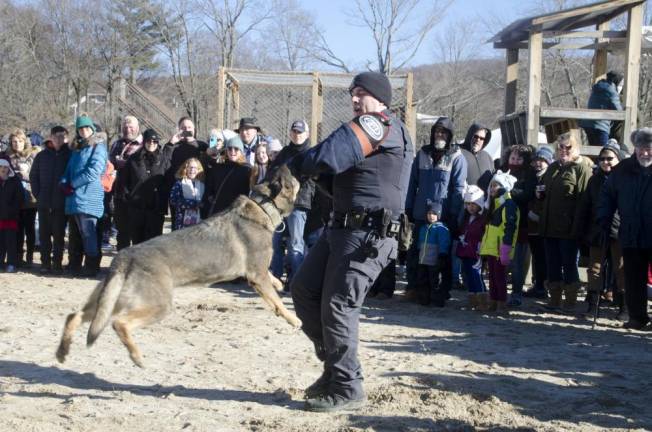
[(101, 259), (97, 221), (104, 214), (101, 177), (108, 159), (106, 135), (96, 133), (93, 121), (84, 115), (77, 117), (75, 129), (73, 152), (60, 185), (66, 195), (65, 213), (70, 218), (71, 231), (76, 228), (81, 236), (86, 255), (84, 275), (95, 276)]

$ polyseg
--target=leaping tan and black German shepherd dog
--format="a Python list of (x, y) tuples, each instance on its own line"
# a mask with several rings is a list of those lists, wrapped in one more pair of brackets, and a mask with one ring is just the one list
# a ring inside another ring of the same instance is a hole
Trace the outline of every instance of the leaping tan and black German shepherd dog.
[(172, 289), (188, 284), (243, 277), (276, 315), (301, 327), (276, 292), (283, 288), (281, 281), (268, 270), (272, 235), (292, 211), (298, 190), (297, 180), (281, 167), (253, 188), (251, 198), (240, 196), (228, 209), (197, 225), (120, 251), (82, 310), (68, 315), (56, 354), (59, 362), (65, 361), (80, 324), (91, 321), (86, 339), (90, 347), (112, 321), (131, 360), (143, 367), (131, 332), (160, 321), (172, 308)]

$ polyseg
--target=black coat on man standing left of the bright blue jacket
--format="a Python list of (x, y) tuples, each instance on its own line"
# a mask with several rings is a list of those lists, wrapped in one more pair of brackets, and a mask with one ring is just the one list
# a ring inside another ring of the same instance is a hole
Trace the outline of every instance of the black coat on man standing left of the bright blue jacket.
[(59, 182), (70, 159), (70, 149), (64, 145), (59, 151), (47, 146), (34, 158), (29, 172), (32, 194), (36, 198), (36, 207), (40, 209), (63, 209), (66, 196), (59, 187)]

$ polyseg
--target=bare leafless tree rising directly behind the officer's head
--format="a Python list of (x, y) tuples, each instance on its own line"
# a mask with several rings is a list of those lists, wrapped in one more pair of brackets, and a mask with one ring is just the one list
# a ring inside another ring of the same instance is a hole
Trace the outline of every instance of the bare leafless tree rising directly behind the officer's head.
[[(376, 44), (378, 71), (402, 69), (444, 17), (453, 0), (356, 0), (364, 27)], [(357, 23), (354, 23), (357, 24)]]

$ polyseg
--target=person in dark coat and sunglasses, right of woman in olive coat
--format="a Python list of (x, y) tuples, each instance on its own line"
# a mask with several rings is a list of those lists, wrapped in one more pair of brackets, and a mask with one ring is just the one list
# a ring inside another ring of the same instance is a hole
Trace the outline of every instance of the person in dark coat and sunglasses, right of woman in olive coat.
[[(603, 234), (602, 227), (598, 222), (598, 208), (602, 188), (612, 170), (618, 163), (627, 157), (616, 140), (610, 139), (607, 145), (602, 147), (598, 156), (598, 166), (586, 186), (586, 193), (582, 195), (578, 212), (577, 228), (579, 240), (589, 246), (589, 267), (588, 267), (588, 303), (587, 315), (593, 316), (597, 296), (600, 295), (603, 284), (602, 262), (605, 252), (610, 254), (611, 266), (616, 276), (617, 293), (614, 295), (615, 303), (618, 305), (619, 320), (627, 316), (624, 304), (625, 271), (623, 266), (623, 254), (618, 244), (618, 229), (620, 228), (620, 216), (618, 212), (614, 215), (608, 235)], [(608, 293), (611, 295), (611, 292)]]

